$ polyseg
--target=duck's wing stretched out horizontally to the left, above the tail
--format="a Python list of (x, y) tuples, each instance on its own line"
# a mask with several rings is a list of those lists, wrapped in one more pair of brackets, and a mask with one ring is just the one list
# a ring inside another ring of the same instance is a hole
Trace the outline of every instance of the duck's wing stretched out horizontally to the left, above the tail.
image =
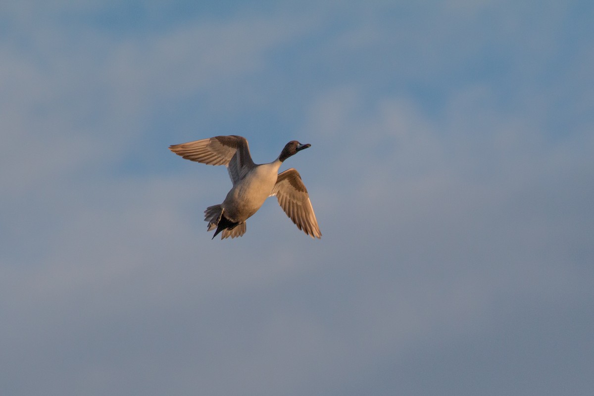
[(241, 136), (215, 136), (169, 146), (169, 150), (187, 160), (207, 165), (225, 165), (233, 185), (254, 167), (248, 141)]

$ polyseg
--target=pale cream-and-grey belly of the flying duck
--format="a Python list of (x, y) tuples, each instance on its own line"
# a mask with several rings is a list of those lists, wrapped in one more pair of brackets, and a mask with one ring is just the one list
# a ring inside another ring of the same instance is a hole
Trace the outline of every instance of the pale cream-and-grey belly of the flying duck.
[(225, 217), (241, 223), (256, 213), (274, 188), (277, 169), (258, 167), (256, 172), (233, 186), (222, 204)]

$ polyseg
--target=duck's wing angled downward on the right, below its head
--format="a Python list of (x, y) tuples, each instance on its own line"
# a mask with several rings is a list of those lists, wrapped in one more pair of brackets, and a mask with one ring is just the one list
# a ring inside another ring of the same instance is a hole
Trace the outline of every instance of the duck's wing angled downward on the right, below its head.
[(303, 230), (312, 238), (322, 237), (318, 221), (315, 219), (314, 208), (311, 207), (311, 201), (309, 201), (307, 188), (305, 188), (299, 172), (291, 168), (279, 173), (270, 196), (273, 195), (276, 195), (280, 207), (293, 220), (298, 229)]

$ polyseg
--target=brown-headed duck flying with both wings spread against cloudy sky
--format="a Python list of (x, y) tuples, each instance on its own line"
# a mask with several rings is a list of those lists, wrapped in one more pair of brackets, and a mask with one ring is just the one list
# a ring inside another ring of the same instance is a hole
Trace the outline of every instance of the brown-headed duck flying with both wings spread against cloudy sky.
[(225, 165), (233, 183), (222, 204), (204, 211), (207, 231), (216, 229), (212, 239), (244, 235), (245, 221), (253, 216), (268, 197), (276, 197), (290, 220), (313, 239), (322, 234), (307, 188), (295, 168), (279, 172), (282, 163), (291, 156), (311, 147), (296, 140), (288, 142), (276, 160), (255, 164), (249, 154), (248, 141), (237, 135), (215, 136), (169, 146), (169, 150), (184, 159), (207, 165)]

